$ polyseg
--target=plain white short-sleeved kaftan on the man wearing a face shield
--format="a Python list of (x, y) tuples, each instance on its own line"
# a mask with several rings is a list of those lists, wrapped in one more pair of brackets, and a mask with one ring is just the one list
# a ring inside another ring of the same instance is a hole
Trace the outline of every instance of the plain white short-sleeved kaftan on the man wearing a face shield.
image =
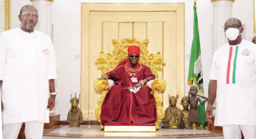
[(49, 36), (20, 28), (0, 35), (0, 80), (3, 124), (49, 122), (49, 79), (57, 79)]

